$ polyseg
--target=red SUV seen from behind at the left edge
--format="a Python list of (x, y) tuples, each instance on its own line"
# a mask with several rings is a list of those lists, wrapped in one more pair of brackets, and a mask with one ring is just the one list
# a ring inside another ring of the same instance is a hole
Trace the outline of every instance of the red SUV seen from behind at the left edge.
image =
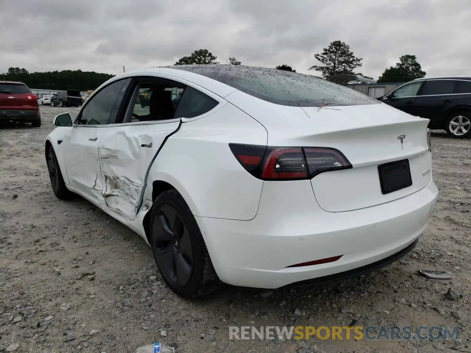
[(30, 122), (41, 126), (38, 98), (23, 82), (0, 81), (0, 123)]

